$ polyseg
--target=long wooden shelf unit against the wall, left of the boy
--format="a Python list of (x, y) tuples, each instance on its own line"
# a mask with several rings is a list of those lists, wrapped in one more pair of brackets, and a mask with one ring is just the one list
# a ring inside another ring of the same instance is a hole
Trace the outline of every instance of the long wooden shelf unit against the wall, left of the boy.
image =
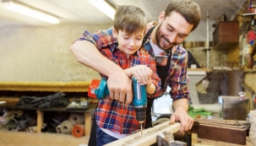
[[(69, 95), (68, 97), (87, 96), (86, 92), (90, 82), (0, 82), (0, 100), (6, 101), (5, 104), (0, 105), (0, 109), (15, 109), (15, 110), (31, 110), (37, 113), (36, 131), (41, 133), (41, 126), (44, 122), (44, 115), (47, 111), (61, 111), (61, 112), (79, 112), (84, 114), (84, 136), (90, 136), (92, 115), (95, 112), (97, 104), (90, 104), (87, 110), (70, 110), (66, 107), (54, 108), (22, 108), (16, 106), (19, 97), (28, 94), (28, 96), (48, 95), (49, 92), (62, 91)], [(70, 99), (69, 99), (70, 100)], [(8, 102), (9, 101), (9, 102)], [(12, 101), (12, 102), (10, 102)], [(16, 101), (16, 102), (14, 102)]]

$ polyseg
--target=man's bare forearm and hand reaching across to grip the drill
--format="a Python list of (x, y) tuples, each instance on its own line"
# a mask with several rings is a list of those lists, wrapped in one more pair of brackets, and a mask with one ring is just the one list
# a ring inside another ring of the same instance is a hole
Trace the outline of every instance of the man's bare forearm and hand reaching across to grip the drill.
[(126, 104), (132, 102), (131, 79), (117, 64), (103, 57), (95, 45), (90, 41), (75, 41), (70, 51), (78, 62), (108, 77), (107, 86), (112, 100), (125, 101)]

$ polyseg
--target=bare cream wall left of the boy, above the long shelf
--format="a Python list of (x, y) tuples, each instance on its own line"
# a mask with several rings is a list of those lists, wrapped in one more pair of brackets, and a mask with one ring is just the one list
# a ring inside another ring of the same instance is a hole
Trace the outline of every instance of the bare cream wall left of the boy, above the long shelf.
[(84, 30), (111, 25), (0, 25), (0, 81), (90, 81), (99, 74), (76, 61), (69, 46)]

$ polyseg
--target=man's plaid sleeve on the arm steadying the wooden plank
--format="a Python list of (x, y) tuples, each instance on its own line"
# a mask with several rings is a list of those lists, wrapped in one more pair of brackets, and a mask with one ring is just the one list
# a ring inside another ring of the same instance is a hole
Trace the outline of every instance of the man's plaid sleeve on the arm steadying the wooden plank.
[(178, 56), (173, 56), (172, 61), (174, 69), (170, 81), (170, 95), (172, 100), (178, 100), (186, 98), (189, 100), (189, 89), (188, 89), (188, 53), (187, 51), (182, 51)]

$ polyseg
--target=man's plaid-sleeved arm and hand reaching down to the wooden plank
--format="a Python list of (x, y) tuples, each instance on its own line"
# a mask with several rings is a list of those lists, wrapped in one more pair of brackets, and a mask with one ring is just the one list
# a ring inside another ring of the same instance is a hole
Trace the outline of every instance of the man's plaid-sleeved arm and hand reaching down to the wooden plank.
[(178, 46), (180, 54), (173, 54), (173, 56), (179, 57), (180, 64), (177, 63), (174, 75), (170, 81), (171, 97), (173, 99), (172, 109), (173, 114), (171, 116), (170, 124), (174, 122), (181, 122), (182, 127), (180, 132), (188, 131), (193, 126), (193, 118), (188, 116), (188, 53), (181, 46)]

